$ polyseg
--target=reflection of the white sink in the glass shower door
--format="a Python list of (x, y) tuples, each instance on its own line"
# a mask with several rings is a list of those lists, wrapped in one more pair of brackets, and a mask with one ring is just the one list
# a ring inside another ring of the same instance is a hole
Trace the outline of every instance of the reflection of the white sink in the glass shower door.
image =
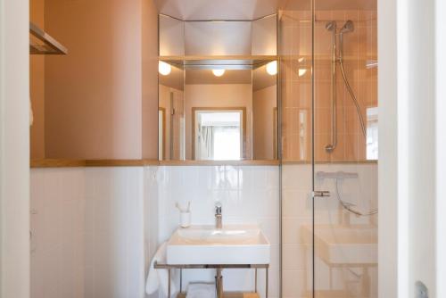
[[(311, 242), (312, 228), (305, 226), (303, 240)], [(317, 225), (314, 233), (315, 253), (330, 266), (377, 264), (377, 231), (370, 226)]]

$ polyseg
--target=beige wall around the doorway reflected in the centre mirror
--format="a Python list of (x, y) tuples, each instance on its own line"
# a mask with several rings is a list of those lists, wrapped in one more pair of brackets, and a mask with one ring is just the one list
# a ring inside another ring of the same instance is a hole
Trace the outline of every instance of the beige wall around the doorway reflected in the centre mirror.
[(193, 107), (246, 107), (246, 158), (252, 158), (252, 85), (185, 85), (186, 159), (192, 158)]

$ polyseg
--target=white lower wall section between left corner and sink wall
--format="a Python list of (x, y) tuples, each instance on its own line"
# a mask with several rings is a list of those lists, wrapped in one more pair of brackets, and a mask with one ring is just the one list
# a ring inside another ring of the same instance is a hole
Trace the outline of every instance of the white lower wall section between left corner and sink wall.
[(85, 297), (144, 297), (144, 168), (87, 168)]

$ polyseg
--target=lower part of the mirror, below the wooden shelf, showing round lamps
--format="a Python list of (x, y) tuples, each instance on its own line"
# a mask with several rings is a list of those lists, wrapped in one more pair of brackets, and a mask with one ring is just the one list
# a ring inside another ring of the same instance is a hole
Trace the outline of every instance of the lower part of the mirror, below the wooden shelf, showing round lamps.
[(277, 159), (276, 61), (160, 67), (160, 160)]

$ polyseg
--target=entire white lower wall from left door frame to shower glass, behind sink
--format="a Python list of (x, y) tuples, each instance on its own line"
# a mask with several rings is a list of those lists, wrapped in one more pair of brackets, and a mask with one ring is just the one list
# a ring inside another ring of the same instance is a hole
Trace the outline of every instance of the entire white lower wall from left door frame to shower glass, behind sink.
[[(157, 246), (191, 201), (194, 224), (259, 224), (272, 244), (270, 297), (278, 296), (278, 167), (31, 170), (32, 298), (144, 297)], [(251, 270), (226, 270), (227, 290), (251, 290)], [(259, 275), (260, 290), (264, 289)], [(186, 274), (212, 279), (211, 272)]]

